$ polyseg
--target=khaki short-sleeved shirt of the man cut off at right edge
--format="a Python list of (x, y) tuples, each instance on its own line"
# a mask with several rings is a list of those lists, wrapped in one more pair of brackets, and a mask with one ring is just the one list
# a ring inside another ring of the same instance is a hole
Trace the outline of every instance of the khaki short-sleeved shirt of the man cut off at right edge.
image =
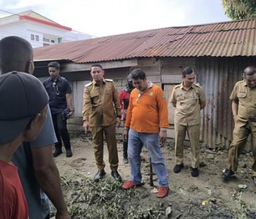
[(236, 125), (242, 127), (249, 122), (256, 127), (256, 87), (250, 89), (245, 80), (238, 81), (229, 98), (238, 103)]

